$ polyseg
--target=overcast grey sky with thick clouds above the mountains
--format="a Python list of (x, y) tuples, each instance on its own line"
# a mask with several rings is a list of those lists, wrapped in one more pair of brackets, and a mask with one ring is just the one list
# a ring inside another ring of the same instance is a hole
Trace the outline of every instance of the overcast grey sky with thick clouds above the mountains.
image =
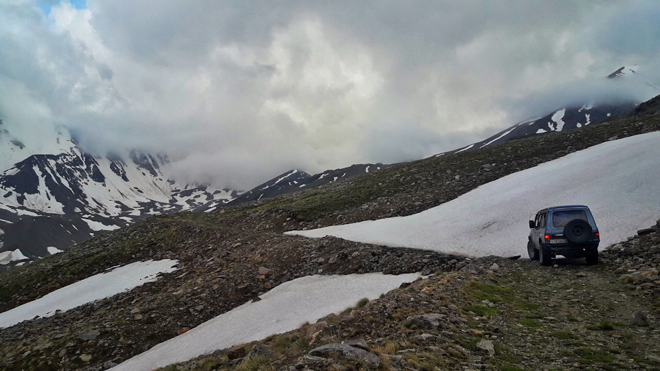
[[(164, 153), (249, 189), (428, 157), (575, 100), (652, 98), (657, 1), (0, 2), (0, 120), (26, 144)], [(637, 65), (643, 79), (606, 81)]]

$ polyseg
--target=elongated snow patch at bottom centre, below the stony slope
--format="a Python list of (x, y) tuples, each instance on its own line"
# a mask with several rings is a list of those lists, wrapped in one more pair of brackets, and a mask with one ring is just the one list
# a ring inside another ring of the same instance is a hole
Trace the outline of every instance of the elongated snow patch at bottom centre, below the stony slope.
[(261, 295), (259, 302), (238, 306), (111, 370), (153, 370), (235, 344), (285, 333), (305, 322), (314, 323), (330, 313), (339, 313), (363, 297), (373, 300), (418, 277), (417, 273), (399, 276), (368, 273), (297, 278)]

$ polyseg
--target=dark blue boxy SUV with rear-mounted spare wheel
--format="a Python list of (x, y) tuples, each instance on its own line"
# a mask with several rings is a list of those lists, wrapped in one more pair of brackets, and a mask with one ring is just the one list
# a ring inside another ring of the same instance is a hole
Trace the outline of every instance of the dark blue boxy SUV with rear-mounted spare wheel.
[(541, 265), (550, 265), (555, 256), (586, 258), (598, 263), (600, 235), (591, 210), (584, 205), (547, 207), (529, 217), (527, 254)]

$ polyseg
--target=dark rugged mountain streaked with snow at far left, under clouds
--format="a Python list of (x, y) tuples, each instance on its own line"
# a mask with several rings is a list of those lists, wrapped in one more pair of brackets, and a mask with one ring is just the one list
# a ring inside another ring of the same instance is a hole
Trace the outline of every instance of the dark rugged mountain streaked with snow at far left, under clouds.
[(145, 216), (226, 203), (238, 195), (167, 179), (161, 170), (164, 157), (90, 155), (65, 128), (54, 144), (42, 148), (25, 146), (6, 128), (1, 133), (0, 254), (7, 256), (0, 267), (51, 254)]

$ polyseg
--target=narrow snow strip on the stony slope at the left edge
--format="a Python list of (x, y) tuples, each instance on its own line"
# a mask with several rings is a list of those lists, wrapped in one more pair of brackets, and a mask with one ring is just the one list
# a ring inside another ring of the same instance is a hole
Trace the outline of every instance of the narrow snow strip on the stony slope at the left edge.
[(0, 328), (14, 326), (34, 317), (50, 317), (56, 311), (68, 311), (95, 300), (128, 291), (146, 282), (157, 280), (159, 273), (170, 273), (177, 260), (148, 260), (124, 265), (106, 273), (85, 278), (53, 291), (40, 299), (0, 313)]

